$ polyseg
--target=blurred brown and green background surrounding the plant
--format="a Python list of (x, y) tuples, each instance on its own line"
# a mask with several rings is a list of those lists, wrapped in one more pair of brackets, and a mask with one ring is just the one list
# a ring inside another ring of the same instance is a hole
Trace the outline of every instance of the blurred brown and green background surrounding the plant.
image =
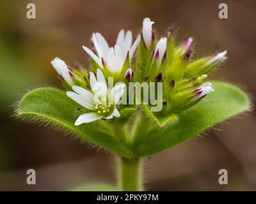
[[(35, 20), (26, 18), (28, 3), (36, 4)], [(220, 3), (228, 4), (228, 19), (218, 18)], [(120, 29), (138, 34), (144, 17), (156, 22), (159, 36), (175, 24), (179, 40), (195, 38), (198, 56), (228, 50), (227, 63), (212, 78), (237, 84), (252, 98), (256, 94), (256, 1), (1, 1), (0, 7), (0, 190), (115, 184), (113, 157), (10, 117), (20, 93), (60, 87), (54, 57), (88, 63), (82, 45), (90, 45), (95, 31), (115, 43)], [(217, 128), (148, 159), (146, 189), (256, 190), (255, 111)], [(35, 186), (26, 184), (29, 168), (36, 170)], [(221, 168), (228, 170), (228, 185), (218, 184)]]

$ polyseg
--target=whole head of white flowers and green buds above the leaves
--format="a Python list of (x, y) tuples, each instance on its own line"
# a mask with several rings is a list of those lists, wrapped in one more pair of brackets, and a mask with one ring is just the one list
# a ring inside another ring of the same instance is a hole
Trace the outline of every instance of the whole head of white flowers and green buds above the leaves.
[[(227, 51), (191, 61), (193, 38), (187, 37), (182, 43), (176, 43), (174, 30), (169, 29), (166, 36), (156, 41), (153, 24), (150, 18), (144, 18), (141, 33), (133, 43), (132, 32), (125, 33), (121, 30), (112, 47), (102, 34), (93, 33), (93, 49), (83, 46), (92, 59), (90, 72), (88, 69), (70, 69), (58, 57), (52, 61), (52, 66), (69, 85), (68, 89), (71, 91), (72, 86), (75, 91), (67, 92), (68, 97), (91, 111), (81, 115), (77, 119), (77, 125), (97, 119), (119, 117), (120, 109), (125, 106), (118, 107), (116, 100), (113, 104), (108, 104), (110, 100), (106, 93), (112, 92), (114, 98), (117, 94), (116, 98), (119, 100), (125, 93), (124, 84), (127, 85), (129, 82), (163, 83), (163, 98), (161, 99), (163, 109), (157, 114), (143, 114), (159, 118), (166, 115), (179, 117), (179, 113), (214, 91), (212, 84), (204, 80), (212, 69), (227, 59)], [(97, 73), (97, 78), (95, 73)], [(118, 86), (122, 88), (121, 91), (116, 91), (116, 86), (106, 85), (108, 77), (113, 77), (115, 83), (121, 82), (122, 85)], [(96, 94), (95, 85), (99, 88), (100, 82), (103, 84), (105, 104), (102, 104), (101, 99), (93, 101), (93, 96)], [(138, 111), (147, 109), (134, 106), (134, 109)]]

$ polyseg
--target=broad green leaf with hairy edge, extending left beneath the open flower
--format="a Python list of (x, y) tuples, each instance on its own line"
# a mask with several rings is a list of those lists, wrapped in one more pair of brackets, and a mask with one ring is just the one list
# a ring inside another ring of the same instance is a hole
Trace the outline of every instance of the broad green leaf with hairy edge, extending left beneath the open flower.
[(65, 92), (44, 87), (28, 92), (22, 97), (17, 107), (17, 115), (29, 122), (44, 122), (50, 128), (74, 133), (78, 138), (99, 145), (103, 149), (132, 156), (131, 150), (112, 136), (115, 134), (106, 121), (97, 120), (90, 124), (75, 126), (74, 122), (81, 115), (81, 112), (76, 111), (78, 107), (79, 105), (69, 99)]

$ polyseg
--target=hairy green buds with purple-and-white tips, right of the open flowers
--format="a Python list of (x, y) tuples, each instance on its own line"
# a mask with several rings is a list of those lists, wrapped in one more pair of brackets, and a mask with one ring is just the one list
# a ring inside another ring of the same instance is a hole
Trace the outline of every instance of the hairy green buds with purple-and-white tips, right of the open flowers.
[(191, 61), (193, 38), (186, 37), (176, 45), (174, 31), (169, 29), (156, 43), (153, 23), (149, 18), (143, 21), (142, 42), (138, 49), (142, 59), (137, 59), (135, 70), (138, 73), (134, 73), (134, 78), (140, 82), (163, 82), (164, 106), (162, 113), (156, 114), (161, 118), (161, 115), (179, 114), (214, 91), (212, 84), (204, 80), (212, 69), (227, 59), (227, 51)]

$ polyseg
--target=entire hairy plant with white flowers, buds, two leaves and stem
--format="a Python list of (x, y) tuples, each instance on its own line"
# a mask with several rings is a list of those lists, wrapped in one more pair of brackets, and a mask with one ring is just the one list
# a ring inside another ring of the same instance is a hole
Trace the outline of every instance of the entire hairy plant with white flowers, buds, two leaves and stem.
[(205, 82), (227, 59), (227, 51), (193, 59), (193, 38), (176, 45), (169, 29), (157, 41), (153, 24), (145, 18), (133, 43), (131, 31), (120, 31), (113, 47), (93, 33), (93, 49), (83, 46), (92, 59), (90, 68), (52, 60), (68, 91), (35, 89), (16, 110), (22, 119), (44, 122), (115, 153), (120, 190), (143, 189), (146, 156), (250, 109), (246, 94), (234, 85)]

